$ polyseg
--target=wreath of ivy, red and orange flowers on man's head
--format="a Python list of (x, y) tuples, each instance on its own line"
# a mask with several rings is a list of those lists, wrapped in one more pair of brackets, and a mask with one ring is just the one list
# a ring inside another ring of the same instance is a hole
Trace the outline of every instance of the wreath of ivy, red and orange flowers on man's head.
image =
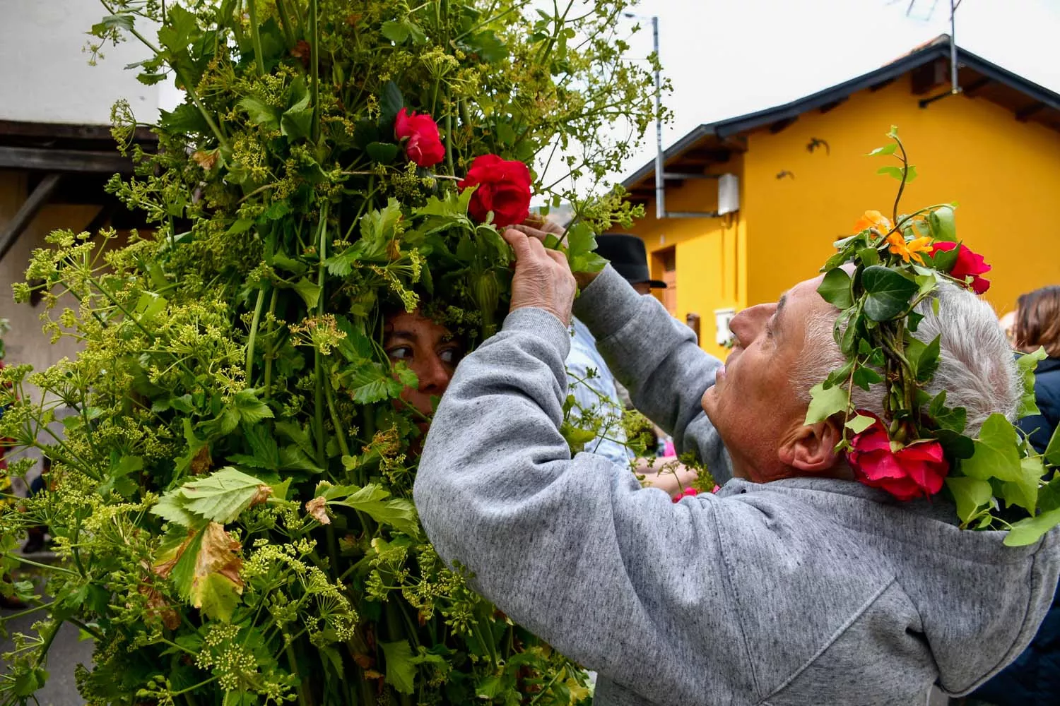
[[(867, 211), (856, 234), (835, 242), (822, 268), (817, 292), (840, 309), (835, 341), (846, 358), (811, 391), (806, 423), (843, 415), (843, 437), (854, 476), (900, 501), (931, 497), (946, 489), (964, 529), (1009, 530), (1010, 546), (1036, 542), (1060, 524), (1060, 430), (1044, 454), (1002, 414), (992, 414), (976, 436), (966, 434), (967, 411), (947, 404), (944, 390), (926, 392), (939, 364), (939, 337), (913, 334), (929, 302), (938, 312), (938, 288), (953, 283), (976, 294), (990, 287), (983, 257), (957, 240), (954, 205), (899, 215), (905, 185), (916, 177), (891, 127), (891, 143), (869, 156), (895, 156), (901, 166), (879, 174), (899, 180), (893, 219)], [(843, 267), (846, 266), (846, 267)], [(852, 270), (851, 270), (852, 266)], [(1043, 350), (1017, 361), (1023, 382), (1019, 416), (1038, 414), (1034, 370)], [(881, 384), (883, 416), (855, 409), (854, 387)]]

